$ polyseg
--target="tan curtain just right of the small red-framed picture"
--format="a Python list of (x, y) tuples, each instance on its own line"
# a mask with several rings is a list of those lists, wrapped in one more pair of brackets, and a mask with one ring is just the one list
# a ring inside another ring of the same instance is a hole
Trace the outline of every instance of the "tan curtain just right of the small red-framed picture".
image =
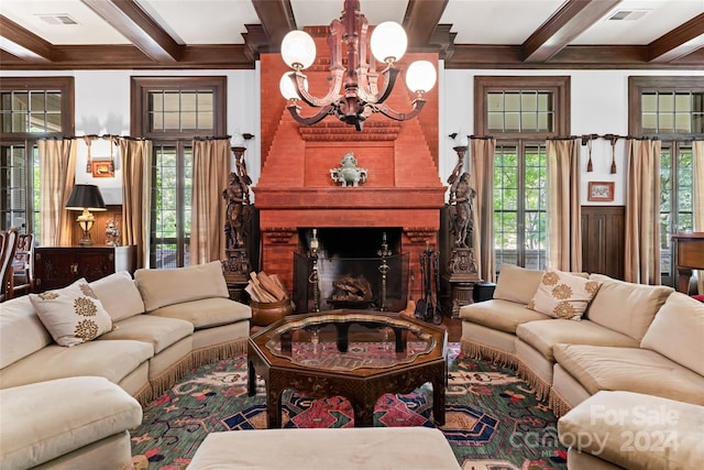
[(660, 284), (660, 141), (626, 141), (625, 280)]

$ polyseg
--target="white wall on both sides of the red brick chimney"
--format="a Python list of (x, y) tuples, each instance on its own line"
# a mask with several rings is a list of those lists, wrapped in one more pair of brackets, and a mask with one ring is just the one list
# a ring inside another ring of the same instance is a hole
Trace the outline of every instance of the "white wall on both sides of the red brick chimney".
[[(703, 70), (444, 70), (438, 75), (440, 87), (440, 164), (439, 173), (443, 182), (457, 162), (453, 143), (448, 135), (460, 128), (466, 134), (474, 133), (473, 89), (476, 75), (569, 75), (571, 76), (571, 134), (628, 133), (628, 77), (632, 75), (684, 75), (704, 76)], [(252, 181), (260, 176), (261, 128), (260, 128), (260, 70), (56, 70), (56, 72), (8, 72), (2, 76), (74, 76), (76, 80), (76, 135), (120, 134), (130, 130), (130, 77), (131, 76), (202, 76), (228, 77), (228, 133), (252, 133), (246, 142), (245, 159)], [(278, 94), (278, 90), (272, 90)], [(94, 157), (109, 155), (107, 141), (96, 141), (91, 146)], [(594, 171), (586, 172), (587, 150), (582, 146), (582, 204), (624, 205), (625, 201), (625, 141), (616, 144), (617, 173), (612, 175), (610, 144), (604, 139), (594, 141), (592, 161)], [(116, 153), (117, 155), (117, 153)], [(87, 151), (79, 146), (77, 182), (100, 186), (107, 204), (121, 204), (121, 168), (116, 168), (114, 178), (92, 178), (85, 172)], [(466, 166), (465, 166), (466, 167)], [(613, 203), (586, 200), (590, 181), (615, 182)]]

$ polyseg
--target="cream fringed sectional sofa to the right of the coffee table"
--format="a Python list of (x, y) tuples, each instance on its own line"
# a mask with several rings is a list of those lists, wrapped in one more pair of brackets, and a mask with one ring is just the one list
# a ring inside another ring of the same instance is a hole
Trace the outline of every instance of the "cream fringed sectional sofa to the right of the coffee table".
[[(601, 391), (704, 406), (704, 304), (667, 286), (562, 274), (598, 286), (579, 320), (528, 308), (546, 272), (504, 265), (494, 298), (460, 309), (463, 352), (517, 369), (558, 417)], [(568, 467), (600, 468), (586, 462)]]

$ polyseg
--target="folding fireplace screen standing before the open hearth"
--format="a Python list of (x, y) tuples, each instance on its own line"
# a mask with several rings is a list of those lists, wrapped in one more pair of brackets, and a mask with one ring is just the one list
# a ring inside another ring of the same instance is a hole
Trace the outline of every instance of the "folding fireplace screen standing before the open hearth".
[[(352, 308), (388, 311), (406, 308), (408, 254), (380, 258), (324, 258), (317, 260), (320, 310)], [(383, 267), (386, 262), (387, 270)], [(384, 282), (382, 272), (386, 271)], [(314, 311), (312, 259), (294, 254), (294, 303), (296, 313)]]

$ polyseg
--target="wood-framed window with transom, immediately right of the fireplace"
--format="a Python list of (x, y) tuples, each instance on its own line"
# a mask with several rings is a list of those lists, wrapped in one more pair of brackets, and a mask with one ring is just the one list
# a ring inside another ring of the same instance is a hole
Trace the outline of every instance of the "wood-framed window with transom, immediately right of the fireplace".
[(570, 78), (476, 77), (475, 134), (496, 138), (494, 250), (502, 264), (544, 269), (546, 139), (566, 135)]

